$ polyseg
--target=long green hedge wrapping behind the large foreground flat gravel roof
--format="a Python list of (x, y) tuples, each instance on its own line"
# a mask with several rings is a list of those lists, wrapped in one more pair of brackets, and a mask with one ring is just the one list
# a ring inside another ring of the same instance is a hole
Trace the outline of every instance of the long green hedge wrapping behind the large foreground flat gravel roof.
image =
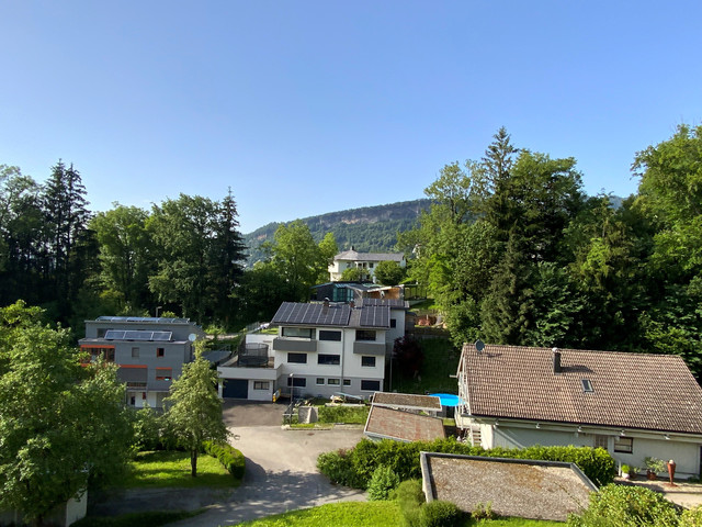
[(362, 439), (353, 449), (326, 452), (317, 459), (317, 468), (332, 482), (366, 489), (380, 466), (388, 467), (400, 481), (421, 479), (419, 452), (445, 452), (490, 458), (534, 459), (575, 463), (598, 486), (611, 483), (616, 463), (609, 452), (589, 447), (541, 447), (524, 449), (492, 448), (484, 450), (457, 442), (453, 438), (434, 441), (398, 442), (389, 439)]

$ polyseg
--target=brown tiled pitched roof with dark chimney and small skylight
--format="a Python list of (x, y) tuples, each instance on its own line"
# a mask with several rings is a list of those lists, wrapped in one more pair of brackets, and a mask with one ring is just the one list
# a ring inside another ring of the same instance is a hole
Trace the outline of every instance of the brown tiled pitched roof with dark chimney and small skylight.
[[(476, 417), (702, 434), (702, 389), (680, 357), (464, 345), (468, 411)], [(592, 391), (584, 390), (589, 380)]]

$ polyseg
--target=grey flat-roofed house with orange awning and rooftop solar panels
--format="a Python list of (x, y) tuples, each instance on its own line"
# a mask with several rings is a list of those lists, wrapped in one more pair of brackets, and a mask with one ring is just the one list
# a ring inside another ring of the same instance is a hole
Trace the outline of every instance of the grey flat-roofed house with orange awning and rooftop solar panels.
[(193, 341), (204, 336), (188, 318), (99, 316), (86, 321), (86, 338), (79, 345), (91, 357), (103, 356), (120, 367), (128, 405), (161, 408), (171, 381), (194, 358)]

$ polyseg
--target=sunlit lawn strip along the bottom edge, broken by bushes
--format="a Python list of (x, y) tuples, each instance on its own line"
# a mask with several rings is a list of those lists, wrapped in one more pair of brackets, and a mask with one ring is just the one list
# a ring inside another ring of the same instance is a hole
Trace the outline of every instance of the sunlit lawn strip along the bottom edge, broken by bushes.
[[(240, 527), (399, 527), (403, 525), (397, 502), (347, 502), (278, 514), (238, 524)], [(558, 522), (503, 518), (467, 519), (466, 527), (563, 527)]]

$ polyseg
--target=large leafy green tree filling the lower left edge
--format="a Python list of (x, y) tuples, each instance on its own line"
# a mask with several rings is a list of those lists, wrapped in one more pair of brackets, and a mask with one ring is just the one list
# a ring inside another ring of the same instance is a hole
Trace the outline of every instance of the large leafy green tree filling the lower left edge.
[(65, 329), (18, 302), (0, 309), (0, 509), (42, 524), (126, 467), (132, 437), (115, 368), (82, 368)]

